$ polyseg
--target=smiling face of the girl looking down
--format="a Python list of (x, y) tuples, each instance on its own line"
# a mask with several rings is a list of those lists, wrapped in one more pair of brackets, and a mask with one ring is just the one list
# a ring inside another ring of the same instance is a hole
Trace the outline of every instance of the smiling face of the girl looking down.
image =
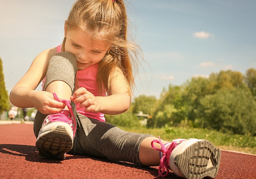
[(101, 61), (109, 49), (103, 41), (92, 41), (90, 36), (80, 28), (68, 30), (65, 25), (65, 37), (65, 52), (75, 56), (78, 70)]

